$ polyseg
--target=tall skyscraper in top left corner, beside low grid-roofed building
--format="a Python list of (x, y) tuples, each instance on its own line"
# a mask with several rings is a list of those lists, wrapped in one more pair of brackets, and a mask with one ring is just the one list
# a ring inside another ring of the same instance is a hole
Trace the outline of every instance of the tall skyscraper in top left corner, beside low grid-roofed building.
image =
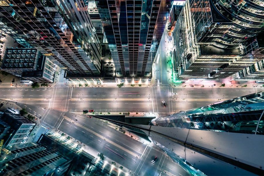
[(0, 28), (48, 56), (66, 76), (100, 73), (101, 45), (84, 1), (1, 1)]

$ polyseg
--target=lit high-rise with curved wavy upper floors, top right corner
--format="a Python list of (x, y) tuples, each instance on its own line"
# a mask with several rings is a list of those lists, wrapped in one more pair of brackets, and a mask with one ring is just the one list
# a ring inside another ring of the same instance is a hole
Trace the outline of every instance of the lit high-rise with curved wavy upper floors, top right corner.
[(262, 42), (256, 42), (264, 31), (263, 11), (262, 1), (187, 0), (173, 32), (176, 77), (226, 78), (242, 69), (261, 70), (254, 64), (263, 60)]

